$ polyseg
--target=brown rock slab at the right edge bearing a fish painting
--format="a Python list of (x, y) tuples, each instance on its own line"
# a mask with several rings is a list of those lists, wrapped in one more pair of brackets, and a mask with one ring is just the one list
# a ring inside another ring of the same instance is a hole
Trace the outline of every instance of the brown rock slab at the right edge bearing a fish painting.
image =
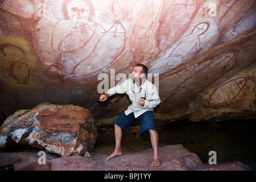
[[(190, 103), (191, 121), (254, 119), (256, 67), (245, 69), (216, 86), (209, 86)], [(192, 113), (192, 111), (194, 113)]]

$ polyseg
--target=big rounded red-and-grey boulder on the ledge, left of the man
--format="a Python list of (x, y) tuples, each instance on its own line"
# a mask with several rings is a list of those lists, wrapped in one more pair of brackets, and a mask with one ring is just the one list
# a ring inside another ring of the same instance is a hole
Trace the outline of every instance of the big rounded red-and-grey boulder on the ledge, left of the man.
[(2, 125), (0, 133), (61, 156), (84, 155), (94, 148), (97, 127), (88, 110), (74, 105), (43, 103)]

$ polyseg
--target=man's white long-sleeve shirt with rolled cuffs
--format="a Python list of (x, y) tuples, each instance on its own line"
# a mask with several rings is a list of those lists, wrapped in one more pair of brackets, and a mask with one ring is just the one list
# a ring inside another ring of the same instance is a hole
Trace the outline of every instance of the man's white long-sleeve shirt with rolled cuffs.
[[(121, 85), (110, 88), (107, 93), (109, 96), (113, 96), (116, 93), (127, 93), (131, 101), (131, 105), (125, 111), (125, 114), (128, 115), (133, 112), (135, 118), (139, 117), (148, 110), (154, 110), (154, 107), (161, 102), (155, 85), (146, 79), (143, 80), (142, 85), (139, 88), (137, 84), (133, 83), (133, 80), (127, 79)], [(145, 93), (146, 102), (144, 106), (140, 106), (138, 104), (139, 99), (144, 97)]]

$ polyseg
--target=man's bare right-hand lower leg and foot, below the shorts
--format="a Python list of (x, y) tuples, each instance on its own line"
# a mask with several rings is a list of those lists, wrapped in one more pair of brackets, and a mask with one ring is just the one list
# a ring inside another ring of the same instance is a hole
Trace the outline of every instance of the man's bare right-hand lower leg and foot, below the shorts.
[(154, 160), (151, 166), (160, 166), (161, 162), (158, 156), (158, 133), (155, 130), (149, 129), (151, 144), (154, 151)]

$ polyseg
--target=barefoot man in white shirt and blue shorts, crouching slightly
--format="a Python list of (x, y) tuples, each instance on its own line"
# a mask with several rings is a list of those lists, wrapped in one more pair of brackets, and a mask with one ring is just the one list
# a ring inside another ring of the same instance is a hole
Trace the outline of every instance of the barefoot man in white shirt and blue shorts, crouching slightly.
[(133, 125), (136, 118), (139, 118), (141, 122), (141, 133), (150, 134), (151, 144), (154, 150), (154, 160), (151, 166), (160, 166), (158, 156), (158, 133), (155, 129), (153, 113), (154, 107), (161, 102), (158, 90), (155, 85), (146, 79), (147, 67), (145, 65), (137, 64), (131, 75), (132, 78), (125, 80), (121, 85), (109, 89), (106, 94), (101, 94), (100, 96), (100, 101), (106, 101), (108, 97), (116, 93), (127, 93), (132, 102), (128, 109), (113, 121), (115, 130), (115, 150), (106, 160), (122, 155), (122, 133)]

